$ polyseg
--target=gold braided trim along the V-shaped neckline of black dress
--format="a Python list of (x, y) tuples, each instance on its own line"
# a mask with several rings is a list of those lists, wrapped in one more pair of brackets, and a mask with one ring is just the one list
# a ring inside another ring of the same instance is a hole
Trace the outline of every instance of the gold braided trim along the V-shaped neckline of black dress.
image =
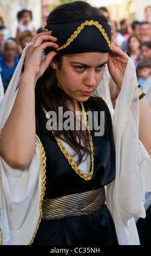
[[(77, 164), (74, 162), (73, 158), (70, 156), (69, 152), (65, 149), (64, 145), (62, 144), (62, 141), (60, 138), (58, 138), (57, 136), (54, 135), (54, 131), (52, 130), (51, 127), (51, 131), (57, 141), (58, 147), (61, 149), (62, 153), (64, 154), (64, 156), (66, 157), (66, 159), (68, 160), (70, 166), (75, 170), (75, 172), (80, 175), (81, 178), (83, 178), (84, 180), (90, 180), (92, 178), (93, 172), (94, 172), (94, 147), (93, 147), (93, 141), (91, 138), (91, 134), (89, 131), (89, 126), (88, 126), (88, 120), (87, 120), (87, 116), (86, 116), (86, 111), (84, 109), (83, 103), (81, 102), (81, 107), (82, 107), (82, 112), (83, 112), (83, 118), (84, 118), (84, 124), (86, 125), (86, 129), (89, 133), (89, 144), (90, 144), (90, 150), (91, 150), (91, 171), (89, 174), (84, 174), (78, 167)], [(43, 109), (44, 113), (45, 113), (45, 109)], [(45, 113), (46, 118), (48, 119), (46, 113)], [(48, 119), (49, 120), (49, 119)]]

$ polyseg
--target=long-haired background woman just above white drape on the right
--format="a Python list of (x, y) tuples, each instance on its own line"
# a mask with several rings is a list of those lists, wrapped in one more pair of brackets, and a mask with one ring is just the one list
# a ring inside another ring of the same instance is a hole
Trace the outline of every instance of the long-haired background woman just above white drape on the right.
[(131, 35), (127, 42), (127, 54), (133, 59), (136, 68), (141, 56), (140, 45), (140, 38), (137, 35)]

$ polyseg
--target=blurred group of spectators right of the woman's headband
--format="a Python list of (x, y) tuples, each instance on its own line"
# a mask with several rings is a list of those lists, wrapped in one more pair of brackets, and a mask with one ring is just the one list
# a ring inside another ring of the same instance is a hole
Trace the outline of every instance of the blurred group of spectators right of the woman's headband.
[[(110, 19), (109, 11), (106, 7), (100, 8), (108, 18), (111, 26), (111, 40), (113, 44), (125, 51), (133, 59), (137, 81), (141, 85), (141, 90), (146, 93), (146, 100), (151, 107), (151, 5), (144, 10), (142, 19), (129, 23), (126, 19), (120, 21), (120, 28), (117, 23)], [(110, 94), (113, 106), (119, 89), (110, 78)]]

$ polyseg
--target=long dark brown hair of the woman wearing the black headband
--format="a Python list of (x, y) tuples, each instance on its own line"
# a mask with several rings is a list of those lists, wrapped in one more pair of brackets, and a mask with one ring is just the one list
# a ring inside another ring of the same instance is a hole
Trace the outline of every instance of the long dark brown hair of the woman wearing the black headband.
[[(101, 13), (98, 8), (92, 7), (90, 4), (83, 1), (75, 1), (73, 3), (62, 4), (56, 9), (52, 10), (47, 19), (47, 24), (54, 24), (60, 22), (71, 22), (77, 20), (97, 20), (97, 17), (102, 17), (102, 21), (108, 22), (107, 18)], [(67, 55), (66, 55), (67, 56)], [(57, 53), (54, 61), (61, 68), (63, 55)], [(37, 81), (36, 100), (46, 109), (46, 111), (55, 111), (58, 114), (58, 107), (63, 107), (63, 113), (69, 111), (66, 102), (72, 100), (70, 97), (58, 87), (58, 81), (55, 75), (55, 70), (49, 66), (42, 77)], [(73, 104), (74, 105), (74, 104)], [(65, 120), (65, 119), (64, 119)], [(90, 152), (88, 147), (89, 136), (87, 131), (54, 131), (55, 136), (61, 137), (63, 135), (64, 141), (67, 142), (78, 155), (79, 164), (83, 156)], [(83, 143), (81, 143), (83, 141)], [(82, 145), (83, 144), (83, 145)], [(81, 151), (82, 150), (82, 151)]]

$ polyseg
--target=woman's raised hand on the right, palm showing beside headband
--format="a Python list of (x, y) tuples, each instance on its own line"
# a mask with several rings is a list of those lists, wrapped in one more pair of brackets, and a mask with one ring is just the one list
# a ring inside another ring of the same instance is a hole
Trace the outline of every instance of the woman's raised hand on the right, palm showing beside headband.
[(115, 84), (121, 89), (124, 72), (128, 63), (128, 56), (119, 47), (112, 44), (113, 50), (109, 53), (108, 69)]

